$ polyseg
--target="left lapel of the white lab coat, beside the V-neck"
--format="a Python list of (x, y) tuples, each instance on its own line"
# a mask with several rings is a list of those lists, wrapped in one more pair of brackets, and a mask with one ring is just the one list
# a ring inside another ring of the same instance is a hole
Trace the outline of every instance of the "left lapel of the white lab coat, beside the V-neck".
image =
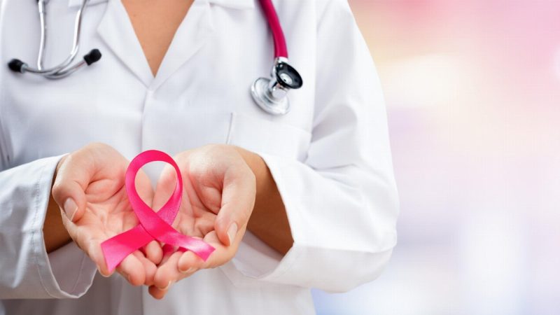
[(109, 0), (97, 33), (146, 87), (151, 85), (153, 75), (150, 66), (120, 0)]

